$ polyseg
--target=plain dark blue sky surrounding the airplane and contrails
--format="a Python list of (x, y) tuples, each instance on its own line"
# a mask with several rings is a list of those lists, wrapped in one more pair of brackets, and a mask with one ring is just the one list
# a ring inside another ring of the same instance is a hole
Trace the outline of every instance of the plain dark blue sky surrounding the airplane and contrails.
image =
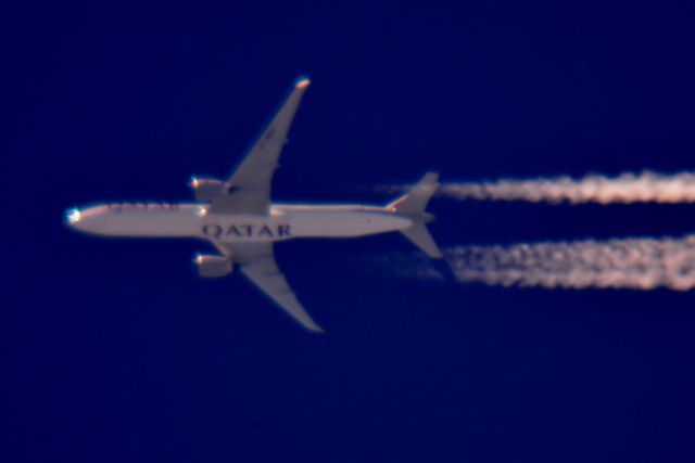
[[(481, 4), (484, 3), (484, 4)], [(313, 79), (281, 201), (417, 179), (693, 168), (695, 9), (656, 2), (25, 4), (4, 15), (8, 462), (695, 461), (695, 295), (403, 281), (397, 235), (277, 258), (305, 333), (205, 243), (98, 240), (72, 206), (189, 201)], [(693, 206), (438, 198), (468, 243), (682, 235)], [(395, 272), (394, 272), (395, 275)]]

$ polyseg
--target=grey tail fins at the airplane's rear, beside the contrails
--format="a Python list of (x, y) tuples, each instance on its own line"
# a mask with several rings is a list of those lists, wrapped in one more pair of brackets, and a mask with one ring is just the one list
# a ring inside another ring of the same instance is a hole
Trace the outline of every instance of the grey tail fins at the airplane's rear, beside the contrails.
[(432, 259), (443, 257), (426, 226), (434, 220), (434, 216), (427, 214), (426, 208), (438, 188), (439, 173), (428, 172), (410, 191), (387, 206), (413, 220), (413, 226), (401, 230), (401, 233)]

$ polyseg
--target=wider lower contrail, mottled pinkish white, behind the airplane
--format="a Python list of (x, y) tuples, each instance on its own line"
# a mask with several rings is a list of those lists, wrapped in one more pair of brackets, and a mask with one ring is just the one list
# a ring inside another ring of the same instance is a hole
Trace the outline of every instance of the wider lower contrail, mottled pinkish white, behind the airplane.
[[(682, 239), (458, 246), (444, 255), (456, 280), (464, 283), (574, 290), (695, 287), (695, 234)], [(386, 261), (397, 266), (402, 276), (442, 280), (425, 259), (391, 256)]]

